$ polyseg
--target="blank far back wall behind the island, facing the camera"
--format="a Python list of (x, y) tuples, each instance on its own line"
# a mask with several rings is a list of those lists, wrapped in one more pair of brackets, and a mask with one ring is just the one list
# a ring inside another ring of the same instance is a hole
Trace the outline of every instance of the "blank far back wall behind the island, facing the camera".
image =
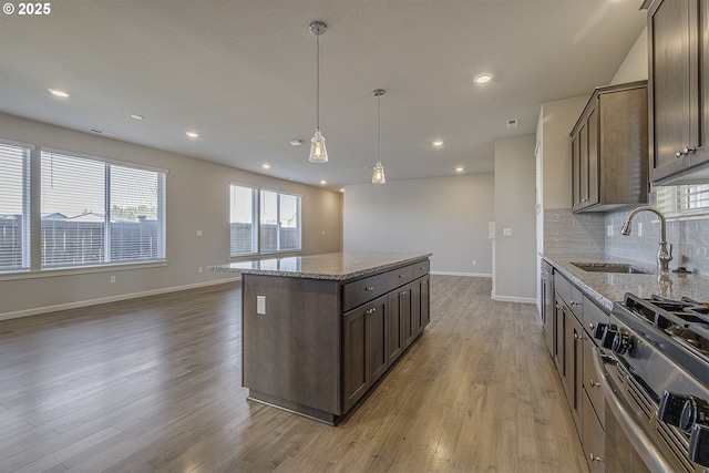
[(434, 273), (490, 276), (493, 215), (493, 174), (346, 186), (343, 249), (432, 253)]

